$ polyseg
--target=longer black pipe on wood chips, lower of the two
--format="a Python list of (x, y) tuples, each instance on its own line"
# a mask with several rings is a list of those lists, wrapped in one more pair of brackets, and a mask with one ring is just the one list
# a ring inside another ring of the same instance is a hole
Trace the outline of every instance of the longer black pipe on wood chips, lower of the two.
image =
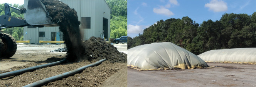
[(79, 68), (74, 69), (72, 71), (65, 72), (65, 73), (62, 73), (62, 74), (59, 74), (59, 75), (56, 75), (56, 76), (52, 76), (52, 77), (49, 77), (49, 78), (46, 78), (46, 79), (39, 80), (39, 81), (34, 82), (32, 84), (25, 85), (24, 87), (38, 87), (38, 86), (47, 84), (49, 82), (62, 79), (64, 77), (71, 76), (73, 74), (76, 74), (77, 72), (83, 71), (84, 69), (86, 69), (88, 67), (93, 67), (93, 66), (99, 65), (99, 64), (101, 64), (101, 62), (104, 62), (106, 60), (107, 60), (106, 58), (105, 59), (101, 59), (100, 61), (94, 62), (92, 64), (89, 64), (89, 65), (86, 65), (86, 66), (82, 66), (82, 67), (79, 67)]

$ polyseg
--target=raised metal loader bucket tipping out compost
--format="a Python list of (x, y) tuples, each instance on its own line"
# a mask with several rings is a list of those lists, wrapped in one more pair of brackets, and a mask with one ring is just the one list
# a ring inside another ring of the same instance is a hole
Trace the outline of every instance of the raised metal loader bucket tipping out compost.
[(25, 19), (27, 23), (33, 26), (58, 26), (57, 23), (52, 22), (48, 15), (45, 6), (40, 0), (26, 0), (27, 13)]

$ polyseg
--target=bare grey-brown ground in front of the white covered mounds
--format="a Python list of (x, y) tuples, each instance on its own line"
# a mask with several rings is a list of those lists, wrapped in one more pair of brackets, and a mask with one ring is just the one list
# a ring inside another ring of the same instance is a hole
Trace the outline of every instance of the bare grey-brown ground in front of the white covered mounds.
[(207, 63), (212, 69), (138, 71), (128, 68), (128, 87), (256, 86), (256, 65)]

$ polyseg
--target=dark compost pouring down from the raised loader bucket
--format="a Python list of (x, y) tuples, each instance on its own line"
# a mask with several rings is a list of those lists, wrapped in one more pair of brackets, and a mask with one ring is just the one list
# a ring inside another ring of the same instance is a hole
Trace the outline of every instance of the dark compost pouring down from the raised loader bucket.
[(59, 25), (59, 31), (63, 33), (63, 40), (67, 48), (67, 59), (77, 61), (84, 57), (84, 45), (82, 44), (77, 12), (59, 0), (41, 0), (52, 21)]

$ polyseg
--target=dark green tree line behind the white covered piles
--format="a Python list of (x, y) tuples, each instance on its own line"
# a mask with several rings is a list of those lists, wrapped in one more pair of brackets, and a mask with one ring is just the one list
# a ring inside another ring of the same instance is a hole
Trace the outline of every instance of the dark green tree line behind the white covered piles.
[(128, 49), (155, 42), (172, 42), (198, 55), (213, 49), (255, 48), (256, 12), (252, 15), (225, 13), (220, 20), (195, 23), (188, 16), (157, 21), (134, 38)]

